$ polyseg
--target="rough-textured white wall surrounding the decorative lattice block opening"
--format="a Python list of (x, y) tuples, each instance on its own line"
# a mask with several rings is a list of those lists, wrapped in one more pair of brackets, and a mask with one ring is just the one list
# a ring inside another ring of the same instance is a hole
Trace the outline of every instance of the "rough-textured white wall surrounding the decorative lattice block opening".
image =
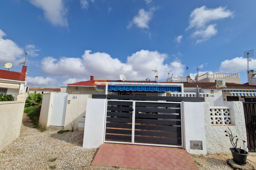
[[(209, 103), (204, 103), (205, 134), (208, 154), (230, 153), (229, 148), (231, 148), (232, 145), (229, 137), (225, 136), (226, 133), (224, 132), (228, 128), (230, 128), (234, 135), (238, 136), (238, 147), (241, 146), (241, 148), (243, 148), (243, 140), (247, 141), (243, 103), (240, 101), (228, 101), (227, 105), (232, 108), (232, 125), (212, 125)], [(247, 146), (247, 142), (245, 146)]]

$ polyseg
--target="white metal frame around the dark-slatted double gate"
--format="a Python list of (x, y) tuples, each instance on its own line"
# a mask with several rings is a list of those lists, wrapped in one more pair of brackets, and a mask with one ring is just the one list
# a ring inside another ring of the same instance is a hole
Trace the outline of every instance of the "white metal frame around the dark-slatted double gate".
[[(108, 101), (127, 101), (133, 102), (133, 112), (132, 112), (132, 141), (131, 142), (118, 142), (118, 141), (106, 141), (106, 120), (107, 120), (107, 108), (108, 108)], [(181, 146), (178, 145), (161, 145), (161, 144), (151, 144), (151, 143), (135, 143), (134, 142), (134, 133), (135, 133), (135, 104), (136, 102), (148, 102), (148, 103), (180, 103), (180, 115), (181, 115)], [(122, 143), (122, 144), (133, 144), (133, 145), (149, 145), (149, 146), (165, 146), (165, 147), (176, 147), (176, 148), (183, 148), (183, 110), (182, 110), (182, 102), (169, 102), (169, 101), (132, 101), (132, 100), (106, 100), (106, 108), (105, 108), (105, 122), (104, 122), (104, 143)]]

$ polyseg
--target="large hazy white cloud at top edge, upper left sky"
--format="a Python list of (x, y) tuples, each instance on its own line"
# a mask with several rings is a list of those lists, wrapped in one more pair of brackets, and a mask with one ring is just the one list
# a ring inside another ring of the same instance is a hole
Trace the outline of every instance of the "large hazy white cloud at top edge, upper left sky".
[[(68, 26), (67, 8), (63, 0), (29, 0), (30, 3), (44, 10), (44, 16), (55, 26)], [(82, 1), (81, 1), (82, 3)]]

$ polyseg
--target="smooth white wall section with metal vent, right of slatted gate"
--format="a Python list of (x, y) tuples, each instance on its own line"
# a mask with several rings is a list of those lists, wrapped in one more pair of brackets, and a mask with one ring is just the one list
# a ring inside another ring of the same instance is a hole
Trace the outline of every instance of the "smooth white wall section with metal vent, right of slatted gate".
[[(207, 154), (204, 103), (205, 102), (182, 102), (183, 148), (190, 154)], [(190, 141), (202, 141), (203, 150), (190, 149)]]

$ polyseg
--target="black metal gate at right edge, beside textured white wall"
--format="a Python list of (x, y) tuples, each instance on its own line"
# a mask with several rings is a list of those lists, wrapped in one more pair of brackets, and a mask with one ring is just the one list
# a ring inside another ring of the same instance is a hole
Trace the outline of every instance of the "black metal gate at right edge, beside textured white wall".
[(249, 151), (256, 151), (256, 103), (243, 102)]

